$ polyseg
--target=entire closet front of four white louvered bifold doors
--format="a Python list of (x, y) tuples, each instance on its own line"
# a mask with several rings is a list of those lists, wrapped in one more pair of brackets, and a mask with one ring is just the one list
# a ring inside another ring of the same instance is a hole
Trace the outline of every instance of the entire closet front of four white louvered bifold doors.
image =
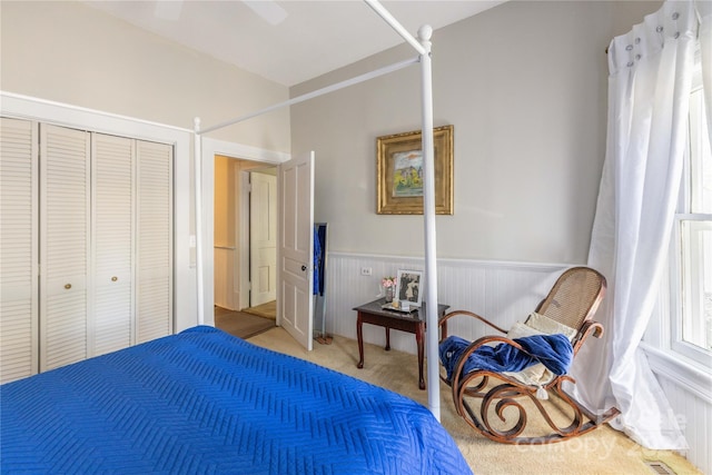
[(0, 127), (0, 378), (172, 333), (172, 147)]

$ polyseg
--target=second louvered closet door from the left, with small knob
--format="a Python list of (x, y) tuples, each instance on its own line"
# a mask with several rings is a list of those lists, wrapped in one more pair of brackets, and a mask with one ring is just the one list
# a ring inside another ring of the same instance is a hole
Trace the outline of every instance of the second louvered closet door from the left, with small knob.
[(87, 357), (90, 135), (40, 125), (40, 372)]

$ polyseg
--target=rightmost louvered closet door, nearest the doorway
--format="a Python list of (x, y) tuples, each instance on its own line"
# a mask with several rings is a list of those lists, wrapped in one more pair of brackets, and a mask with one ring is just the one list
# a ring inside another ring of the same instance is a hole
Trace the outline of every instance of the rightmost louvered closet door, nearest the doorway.
[(172, 333), (172, 147), (137, 141), (137, 343)]

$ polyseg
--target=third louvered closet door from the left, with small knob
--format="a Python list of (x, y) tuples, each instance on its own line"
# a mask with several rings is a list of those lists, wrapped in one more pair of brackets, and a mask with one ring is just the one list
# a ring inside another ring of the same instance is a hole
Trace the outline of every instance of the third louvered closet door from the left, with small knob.
[(134, 320), (135, 140), (93, 133), (91, 141), (91, 348), (102, 355), (131, 345)]

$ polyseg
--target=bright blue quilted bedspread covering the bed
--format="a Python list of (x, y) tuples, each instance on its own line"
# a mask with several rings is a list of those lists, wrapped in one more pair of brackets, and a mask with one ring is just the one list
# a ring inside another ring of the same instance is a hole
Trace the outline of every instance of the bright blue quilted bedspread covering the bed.
[(212, 327), (0, 387), (0, 469), (467, 474), (421, 404)]

